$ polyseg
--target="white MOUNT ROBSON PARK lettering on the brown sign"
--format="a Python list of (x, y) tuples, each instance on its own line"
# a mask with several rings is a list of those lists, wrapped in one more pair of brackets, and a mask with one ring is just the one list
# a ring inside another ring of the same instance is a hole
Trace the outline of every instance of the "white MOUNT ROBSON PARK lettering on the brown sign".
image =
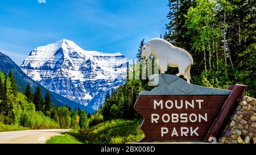
[[(166, 109), (201, 109), (203, 99), (196, 100), (154, 100), (154, 110), (164, 108)], [(202, 111), (199, 114), (196, 113), (164, 113), (164, 114), (151, 114), (151, 123), (201, 123), (207, 122), (207, 112)], [(169, 136), (199, 136), (197, 131), (199, 127), (160, 127), (161, 136), (165, 134)]]

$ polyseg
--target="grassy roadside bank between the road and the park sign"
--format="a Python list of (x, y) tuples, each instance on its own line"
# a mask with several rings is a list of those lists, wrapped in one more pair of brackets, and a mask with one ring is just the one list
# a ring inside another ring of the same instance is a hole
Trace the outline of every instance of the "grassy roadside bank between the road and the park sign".
[(139, 128), (142, 120), (110, 120), (97, 124), (89, 129), (63, 133), (64, 136), (53, 136), (46, 143), (77, 144), (77, 143), (101, 143), (122, 144), (137, 142), (144, 137)]

